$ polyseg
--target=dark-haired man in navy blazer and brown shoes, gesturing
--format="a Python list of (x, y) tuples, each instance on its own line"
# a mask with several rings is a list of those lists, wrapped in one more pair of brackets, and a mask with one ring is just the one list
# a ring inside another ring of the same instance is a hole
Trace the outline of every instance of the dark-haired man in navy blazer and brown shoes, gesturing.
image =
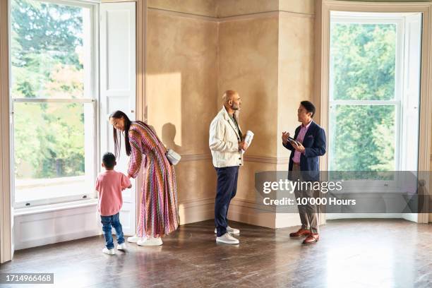
[[(309, 101), (302, 101), (297, 110), (301, 125), (296, 128), (294, 140), (289, 133), (282, 132), (282, 144), (291, 150), (289, 157), (288, 179), (296, 181), (319, 180), (319, 156), (325, 154), (325, 132), (312, 117), (315, 106)], [(296, 198), (313, 198), (313, 189), (298, 189), (294, 191)], [(318, 211), (316, 205), (308, 201), (306, 205), (298, 205), (301, 228), (289, 234), (290, 237), (306, 236), (304, 244), (311, 244), (319, 239)]]

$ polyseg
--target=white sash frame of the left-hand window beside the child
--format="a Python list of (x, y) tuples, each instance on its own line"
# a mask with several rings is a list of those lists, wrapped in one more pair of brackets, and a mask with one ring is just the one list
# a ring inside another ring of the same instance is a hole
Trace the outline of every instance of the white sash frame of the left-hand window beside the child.
[[(10, 112), (11, 115), (13, 115), (13, 106), (15, 103), (78, 103), (78, 104), (91, 104), (92, 105), (92, 131), (94, 131), (94, 135), (92, 136), (92, 171), (91, 178), (93, 182), (95, 181), (95, 178), (97, 176), (98, 172), (98, 162), (99, 162), (99, 156), (100, 155), (100, 137), (99, 137), (99, 118), (100, 118), (100, 109), (99, 105), (99, 91), (100, 91), (100, 85), (99, 85), (99, 2), (95, 0), (35, 0), (35, 1), (41, 1), (45, 3), (51, 3), (51, 4), (59, 4), (59, 5), (68, 5), (68, 6), (76, 6), (81, 8), (89, 8), (90, 9), (90, 65), (91, 65), (91, 72), (90, 72), (90, 89), (87, 98), (79, 98), (79, 99), (60, 99), (60, 98), (13, 98), (12, 95), (9, 95), (9, 99), (11, 101), (11, 107)], [(9, 0), (9, 11), (8, 14), (11, 15), (11, 0)], [(9, 39), (11, 39), (11, 17), (9, 17)], [(9, 45), (9, 55), (11, 54), (11, 45)], [(9, 71), (11, 71), (11, 57), (9, 57)], [(11, 83), (9, 85), (11, 88)], [(10, 89), (11, 91), (11, 89)], [(10, 92), (11, 93), (11, 92)], [(85, 95), (87, 96), (87, 95)], [(11, 127), (11, 169), (13, 172), (14, 169), (14, 155), (13, 151), (13, 132), (14, 127)], [(86, 160), (85, 160), (86, 161)], [(13, 175), (13, 174), (12, 174)], [(40, 200), (32, 200), (32, 201), (24, 201), (20, 203), (15, 202), (15, 177), (12, 177), (12, 202), (14, 209), (29, 209), (29, 208), (36, 208), (40, 207), (41, 209), (47, 209), (47, 205), (58, 205), (59, 203), (81, 203), (82, 201), (88, 201), (89, 199), (95, 199), (97, 198), (96, 191), (92, 188), (92, 186), (88, 187), (88, 191), (83, 191), (83, 193), (77, 193), (73, 196), (63, 196), (63, 197), (57, 197), (57, 198), (47, 198), (47, 199), (40, 199)], [(77, 202), (78, 201), (78, 202)]]

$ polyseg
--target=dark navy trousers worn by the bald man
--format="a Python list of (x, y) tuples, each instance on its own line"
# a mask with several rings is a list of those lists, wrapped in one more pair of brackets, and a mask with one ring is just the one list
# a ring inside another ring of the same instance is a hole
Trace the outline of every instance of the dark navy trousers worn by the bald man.
[(217, 236), (227, 233), (229, 202), (237, 192), (239, 166), (215, 168), (217, 172), (217, 192), (215, 200), (215, 225)]

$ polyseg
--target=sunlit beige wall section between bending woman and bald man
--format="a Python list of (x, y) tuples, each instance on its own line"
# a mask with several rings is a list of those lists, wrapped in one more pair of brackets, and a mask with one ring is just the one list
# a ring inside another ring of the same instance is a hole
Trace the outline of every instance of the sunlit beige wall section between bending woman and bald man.
[(191, 201), (215, 195), (208, 127), (217, 112), (217, 23), (149, 9), (147, 25), (148, 122), (183, 157), (176, 166), (181, 223), (211, 219), (212, 205), (197, 214)]

